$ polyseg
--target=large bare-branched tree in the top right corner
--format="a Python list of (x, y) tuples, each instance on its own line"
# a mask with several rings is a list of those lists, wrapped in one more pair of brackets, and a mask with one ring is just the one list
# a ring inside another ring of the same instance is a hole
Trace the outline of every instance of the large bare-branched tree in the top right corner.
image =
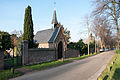
[(120, 18), (120, 0), (95, 0), (96, 8), (93, 11), (94, 16), (106, 16), (113, 20), (116, 25), (117, 33), (120, 35), (119, 18)]

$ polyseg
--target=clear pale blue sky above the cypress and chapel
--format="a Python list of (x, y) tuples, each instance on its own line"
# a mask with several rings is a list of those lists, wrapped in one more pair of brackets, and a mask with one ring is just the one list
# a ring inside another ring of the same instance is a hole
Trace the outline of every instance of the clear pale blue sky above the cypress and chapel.
[[(70, 41), (87, 38), (85, 16), (93, 10), (91, 0), (55, 0), (58, 22), (70, 30)], [(32, 8), (34, 34), (52, 28), (54, 0), (0, 0), (0, 30), (13, 32), (22, 30), (25, 8)]]

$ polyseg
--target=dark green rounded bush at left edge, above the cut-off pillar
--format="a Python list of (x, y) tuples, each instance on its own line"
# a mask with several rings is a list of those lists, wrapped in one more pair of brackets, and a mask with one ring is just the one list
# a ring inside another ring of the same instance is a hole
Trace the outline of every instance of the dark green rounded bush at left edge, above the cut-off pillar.
[(10, 34), (0, 31), (0, 50), (6, 50), (12, 47)]

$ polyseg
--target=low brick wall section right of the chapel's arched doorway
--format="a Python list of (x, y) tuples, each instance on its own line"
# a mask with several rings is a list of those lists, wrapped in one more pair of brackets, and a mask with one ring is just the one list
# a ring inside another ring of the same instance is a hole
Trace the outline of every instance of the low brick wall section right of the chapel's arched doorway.
[(78, 50), (68, 49), (65, 53), (65, 58), (79, 57), (80, 53)]

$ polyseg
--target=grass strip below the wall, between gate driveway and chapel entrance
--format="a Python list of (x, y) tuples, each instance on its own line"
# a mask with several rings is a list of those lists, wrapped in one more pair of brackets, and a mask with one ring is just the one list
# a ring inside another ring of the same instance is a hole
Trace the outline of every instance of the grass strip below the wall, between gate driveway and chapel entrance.
[(54, 66), (59, 66), (59, 65), (65, 64), (65, 63), (70, 63), (70, 62), (72, 62), (72, 61), (58, 60), (58, 61), (41, 63), (41, 64), (28, 65), (28, 66), (24, 66), (23, 68), (32, 69), (32, 70), (42, 70), (42, 69), (46, 69), (46, 68), (50, 68), (50, 67), (54, 67)]

